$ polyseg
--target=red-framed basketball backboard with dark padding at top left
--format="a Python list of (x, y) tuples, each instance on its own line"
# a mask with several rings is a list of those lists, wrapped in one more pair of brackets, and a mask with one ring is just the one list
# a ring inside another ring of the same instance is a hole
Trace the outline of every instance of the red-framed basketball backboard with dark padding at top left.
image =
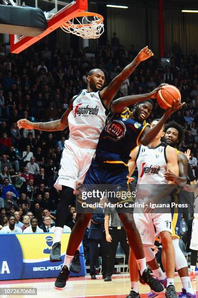
[[(10, 0), (15, 5), (13, 0)], [(18, 54), (39, 39), (50, 34), (65, 22), (88, 8), (88, 0), (17, 0), (18, 6), (38, 7), (47, 19), (47, 29), (36, 37), (10, 35), (10, 52)]]

